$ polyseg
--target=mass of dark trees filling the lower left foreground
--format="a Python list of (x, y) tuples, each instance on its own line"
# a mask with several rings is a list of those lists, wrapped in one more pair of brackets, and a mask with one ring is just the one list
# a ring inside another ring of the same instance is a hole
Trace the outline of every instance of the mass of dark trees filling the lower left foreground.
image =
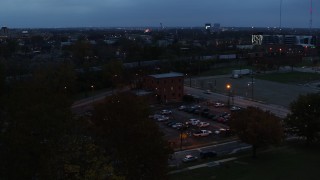
[(88, 121), (71, 112), (72, 66), (39, 69), (10, 83), (2, 67), (1, 178), (165, 178), (170, 149), (147, 118), (149, 106), (142, 99), (110, 97), (95, 106)]

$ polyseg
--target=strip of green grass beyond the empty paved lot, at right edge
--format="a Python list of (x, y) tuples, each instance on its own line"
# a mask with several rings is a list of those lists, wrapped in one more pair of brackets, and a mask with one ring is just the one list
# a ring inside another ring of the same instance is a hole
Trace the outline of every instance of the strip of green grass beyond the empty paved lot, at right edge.
[(268, 81), (280, 82), (280, 83), (304, 84), (310, 81), (319, 80), (320, 74), (308, 73), (308, 72), (286, 72), (286, 73), (260, 74), (260, 75), (257, 75), (256, 78), (268, 80)]

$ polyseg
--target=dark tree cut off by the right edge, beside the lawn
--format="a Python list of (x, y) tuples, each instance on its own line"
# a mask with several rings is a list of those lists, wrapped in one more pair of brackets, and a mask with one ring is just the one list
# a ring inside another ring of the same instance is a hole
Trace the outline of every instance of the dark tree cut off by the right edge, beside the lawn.
[(291, 113), (285, 119), (292, 133), (306, 138), (307, 144), (317, 139), (320, 132), (320, 94), (300, 95), (290, 104)]

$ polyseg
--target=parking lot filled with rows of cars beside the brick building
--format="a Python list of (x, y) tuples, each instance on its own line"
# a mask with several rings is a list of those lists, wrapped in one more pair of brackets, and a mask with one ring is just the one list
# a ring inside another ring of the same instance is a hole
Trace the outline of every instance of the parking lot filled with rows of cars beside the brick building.
[[(214, 104), (203, 101), (197, 104), (154, 107), (150, 118), (157, 122), (172, 147), (180, 150), (230, 138), (227, 125), (230, 113), (226, 106), (215, 107)], [(200, 133), (201, 130), (204, 131)]]

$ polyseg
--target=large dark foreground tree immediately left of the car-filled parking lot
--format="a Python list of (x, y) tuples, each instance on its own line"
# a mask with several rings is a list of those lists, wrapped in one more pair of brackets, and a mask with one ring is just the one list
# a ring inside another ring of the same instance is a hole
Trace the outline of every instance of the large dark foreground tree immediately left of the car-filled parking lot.
[(129, 180), (166, 178), (169, 145), (148, 113), (146, 102), (129, 93), (108, 97), (93, 113), (115, 172)]

